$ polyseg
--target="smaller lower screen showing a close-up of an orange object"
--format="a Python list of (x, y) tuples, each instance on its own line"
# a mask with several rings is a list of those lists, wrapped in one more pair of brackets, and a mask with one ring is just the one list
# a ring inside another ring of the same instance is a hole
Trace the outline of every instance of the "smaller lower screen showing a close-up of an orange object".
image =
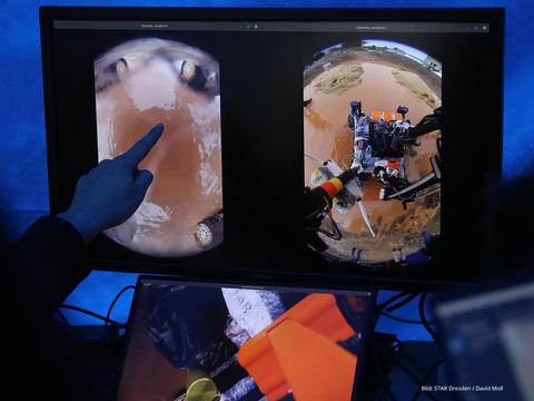
[(373, 302), (141, 278), (118, 400), (353, 400)]

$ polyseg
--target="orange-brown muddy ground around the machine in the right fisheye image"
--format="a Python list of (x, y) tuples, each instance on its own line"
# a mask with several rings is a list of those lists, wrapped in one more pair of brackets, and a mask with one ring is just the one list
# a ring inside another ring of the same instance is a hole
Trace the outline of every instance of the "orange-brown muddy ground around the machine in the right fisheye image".
[[(384, 60), (378, 57), (383, 53), (380, 51), (358, 49), (339, 51), (319, 60), (320, 69), (315, 68), (317, 74), (313, 79), (313, 74), (305, 71), (304, 99), (312, 99), (304, 110), (305, 151), (323, 160), (332, 159), (344, 169), (350, 166), (354, 146), (353, 133), (347, 126), (350, 101), (360, 100), (366, 115), (370, 115), (372, 109), (396, 111), (398, 106), (406, 106), (409, 109), (406, 117), (413, 125), (441, 106), (441, 86), (439, 90), (432, 89), (437, 88), (438, 77), (432, 72), (428, 72), (432, 76), (415, 74), (421, 66), (413, 66), (416, 65), (414, 61), (397, 55), (386, 53)], [(347, 60), (348, 55), (372, 57)], [(390, 62), (397, 58), (402, 59), (399, 63), (403, 66)], [(334, 67), (325, 71), (325, 62), (332, 62)], [(359, 81), (354, 85), (355, 80), (350, 79), (350, 85), (340, 88), (340, 76), (345, 71), (354, 71), (355, 66), (358, 67)], [(409, 71), (406, 66), (411, 67)], [(421, 69), (424, 70), (423, 67)], [(325, 90), (328, 81), (336, 84), (335, 90)], [(406, 149), (405, 173), (411, 183), (432, 172), (429, 157), (437, 153), (436, 138), (439, 136), (439, 131), (424, 135), (419, 138), (421, 146)], [(312, 186), (312, 173), (317, 167), (316, 162), (305, 157), (305, 185)], [(393, 258), (394, 248), (402, 248), (405, 256), (421, 250), (424, 246), (422, 231), (439, 234), (439, 192), (408, 203), (405, 211), (398, 200), (379, 199), (382, 184), (370, 174), (363, 174), (360, 178), (364, 182), (363, 203), (376, 237), (370, 235), (357, 205), (346, 214), (334, 209), (334, 219), (342, 229), (343, 239), (334, 241), (322, 235), (329, 246), (326, 256), (347, 261), (352, 250), (356, 248), (363, 250), (362, 263), (382, 263)], [(325, 218), (322, 228), (330, 231), (330, 222)]]

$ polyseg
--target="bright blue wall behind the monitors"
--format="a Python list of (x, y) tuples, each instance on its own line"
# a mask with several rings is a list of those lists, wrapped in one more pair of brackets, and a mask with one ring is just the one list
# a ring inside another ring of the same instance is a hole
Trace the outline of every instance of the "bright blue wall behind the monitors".
[[(0, 217), (17, 238), (39, 215), (48, 214), (48, 180), (39, 36), (40, 6), (152, 7), (505, 7), (506, 50), (504, 81), (503, 177), (513, 179), (534, 162), (534, 7), (530, 0), (130, 0), (49, 1), (0, 0)], [(476, 101), (476, 99), (474, 99)], [(492, 124), (491, 116), (474, 116)], [(73, 133), (76, 134), (76, 133)], [(8, 218), (9, 217), (9, 218)], [(137, 275), (95, 272), (68, 303), (107, 313), (116, 294)], [(132, 292), (118, 302), (112, 317), (125, 322)], [(387, 297), (390, 293), (382, 293)], [(412, 314), (409, 307), (407, 314)], [(86, 317), (69, 315), (73, 323)], [(387, 331), (388, 327), (385, 329)], [(425, 333), (403, 326), (405, 338)], [(398, 330), (397, 330), (398, 331)]]

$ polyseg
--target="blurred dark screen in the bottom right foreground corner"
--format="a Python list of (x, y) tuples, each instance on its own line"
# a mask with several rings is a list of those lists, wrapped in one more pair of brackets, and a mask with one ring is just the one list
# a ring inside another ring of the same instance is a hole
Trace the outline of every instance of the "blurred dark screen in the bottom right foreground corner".
[(516, 271), (433, 300), (458, 400), (533, 399), (532, 280)]

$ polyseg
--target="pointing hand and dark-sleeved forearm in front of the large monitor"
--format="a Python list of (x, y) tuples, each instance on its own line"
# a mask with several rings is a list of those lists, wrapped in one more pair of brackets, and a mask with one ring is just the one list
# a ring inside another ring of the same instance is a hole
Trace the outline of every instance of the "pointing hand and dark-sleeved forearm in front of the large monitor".
[(39, 218), (4, 250), (0, 261), (11, 277), (11, 297), (28, 305), (21, 310), (49, 316), (89, 274), (85, 243), (126, 221), (142, 202), (152, 175), (137, 166), (162, 130), (156, 126), (123, 155), (100, 163), (80, 178), (68, 211)]

